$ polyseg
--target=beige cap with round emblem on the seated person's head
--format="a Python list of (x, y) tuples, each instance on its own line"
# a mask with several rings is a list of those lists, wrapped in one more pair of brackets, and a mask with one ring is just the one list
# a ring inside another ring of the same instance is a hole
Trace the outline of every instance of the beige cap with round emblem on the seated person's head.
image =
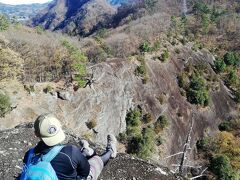
[(34, 129), (39, 138), (48, 146), (55, 146), (65, 139), (62, 125), (53, 114), (38, 116), (34, 122)]

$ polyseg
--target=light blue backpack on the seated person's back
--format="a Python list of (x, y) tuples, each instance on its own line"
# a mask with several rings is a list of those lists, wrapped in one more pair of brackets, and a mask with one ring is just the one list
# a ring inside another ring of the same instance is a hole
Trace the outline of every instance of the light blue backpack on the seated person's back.
[(50, 162), (63, 147), (54, 146), (45, 155), (34, 155), (34, 148), (30, 149), (20, 180), (57, 180), (58, 177)]

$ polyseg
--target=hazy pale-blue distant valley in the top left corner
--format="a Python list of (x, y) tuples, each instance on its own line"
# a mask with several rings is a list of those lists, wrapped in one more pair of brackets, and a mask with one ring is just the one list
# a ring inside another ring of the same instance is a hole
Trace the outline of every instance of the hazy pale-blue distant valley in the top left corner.
[(47, 8), (48, 3), (29, 5), (9, 5), (0, 3), (0, 13), (17, 20), (28, 20), (35, 16), (40, 10)]

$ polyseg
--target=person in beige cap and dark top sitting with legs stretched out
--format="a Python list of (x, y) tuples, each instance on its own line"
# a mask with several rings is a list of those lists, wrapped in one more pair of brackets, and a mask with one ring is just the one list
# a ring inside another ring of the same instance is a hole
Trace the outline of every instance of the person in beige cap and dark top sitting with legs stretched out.
[[(54, 147), (60, 146), (65, 140), (65, 133), (62, 130), (61, 123), (52, 114), (40, 115), (34, 122), (34, 130), (35, 135), (40, 138), (40, 142), (32, 149), (33, 156), (39, 157), (38, 159), (46, 155)], [(101, 156), (96, 155), (86, 140), (82, 140), (81, 145), (82, 148), (75, 145), (63, 145), (59, 153), (50, 161), (59, 180), (97, 180), (104, 165), (110, 158), (115, 158), (117, 155), (117, 140), (114, 135), (107, 136), (106, 151)], [(23, 168), (20, 179), (24, 179), (29, 163), (34, 159), (30, 154), (31, 150), (28, 150), (24, 156), (23, 162), (26, 168)], [(42, 178), (39, 177), (39, 179)]]

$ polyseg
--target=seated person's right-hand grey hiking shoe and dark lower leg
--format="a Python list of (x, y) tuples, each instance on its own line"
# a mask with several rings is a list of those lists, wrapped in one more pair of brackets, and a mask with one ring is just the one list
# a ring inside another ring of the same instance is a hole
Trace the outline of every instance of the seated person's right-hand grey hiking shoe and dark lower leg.
[(104, 165), (106, 165), (110, 158), (115, 158), (116, 156), (117, 156), (117, 139), (114, 135), (108, 135), (106, 152), (103, 153), (100, 156), (100, 158), (102, 159)]

